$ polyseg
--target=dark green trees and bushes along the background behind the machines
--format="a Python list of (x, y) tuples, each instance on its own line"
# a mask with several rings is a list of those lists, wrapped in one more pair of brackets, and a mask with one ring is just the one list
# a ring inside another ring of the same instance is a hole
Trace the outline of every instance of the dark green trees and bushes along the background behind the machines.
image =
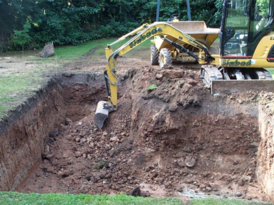
[[(221, 2), (190, 1), (192, 20), (205, 20), (209, 27), (219, 27)], [(3, 39), (0, 48), (3, 51), (18, 50), (18, 46), (37, 49), (51, 41), (55, 45), (79, 44), (123, 36), (143, 23), (153, 23), (157, 3), (158, 0), (0, 1), (0, 37)], [(160, 20), (167, 20), (171, 14), (188, 20), (186, 2), (162, 0)]]

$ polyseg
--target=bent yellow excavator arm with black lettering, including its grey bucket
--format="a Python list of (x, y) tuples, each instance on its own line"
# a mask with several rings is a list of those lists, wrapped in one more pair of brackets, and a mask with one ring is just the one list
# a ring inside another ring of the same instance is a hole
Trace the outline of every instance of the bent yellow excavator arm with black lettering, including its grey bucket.
[[(116, 49), (116, 51), (112, 51), (113, 44), (121, 42), (129, 36), (134, 37), (122, 46), (120, 46), (119, 49)], [(151, 25), (142, 25), (134, 31), (127, 33), (127, 35), (122, 36), (121, 38), (119, 38), (119, 40), (116, 40), (112, 44), (108, 44), (107, 48), (105, 48), (107, 65), (104, 70), (105, 84), (108, 92), (108, 102), (98, 102), (97, 110), (95, 113), (95, 123), (99, 126), (99, 128), (102, 128), (104, 120), (108, 118), (108, 113), (117, 109), (117, 84), (119, 83), (119, 79), (116, 74), (117, 57), (124, 55), (142, 42), (151, 39), (151, 37), (153, 36), (160, 36), (161, 38), (163, 38), (163, 40), (169, 42), (181, 52), (188, 53), (190, 56), (195, 57), (199, 64), (208, 64), (214, 61), (214, 57), (210, 56), (206, 44), (200, 42), (199, 40), (196, 40), (195, 38), (192, 38), (192, 36), (189, 36), (187, 33), (180, 31), (169, 23), (163, 22), (153, 23)], [(168, 38), (166, 38), (166, 36), (171, 36), (179, 41), (184, 42), (184, 44), (194, 46), (195, 48), (199, 49), (199, 55), (191, 53), (190, 51), (188, 51), (188, 49), (185, 49), (184, 46), (181, 46), (176, 42), (169, 40)]]

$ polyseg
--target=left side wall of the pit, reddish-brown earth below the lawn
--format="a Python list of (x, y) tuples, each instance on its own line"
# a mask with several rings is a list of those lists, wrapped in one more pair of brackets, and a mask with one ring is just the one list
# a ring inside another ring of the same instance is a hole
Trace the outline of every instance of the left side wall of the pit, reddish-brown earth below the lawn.
[[(50, 88), (49, 88), (50, 87)], [(0, 190), (14, 190), (44, 150), (44, 140), (64, 123), (62, 89), (51, 81), (1, 123)]]

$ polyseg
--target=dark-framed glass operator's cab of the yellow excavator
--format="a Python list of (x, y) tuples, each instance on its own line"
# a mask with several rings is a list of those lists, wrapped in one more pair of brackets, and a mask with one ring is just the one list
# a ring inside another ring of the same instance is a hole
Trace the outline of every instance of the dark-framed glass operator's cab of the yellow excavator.
[(273, 29), (273, 1), (225, 1), (221, 57), (251, 58), (262, 37)]

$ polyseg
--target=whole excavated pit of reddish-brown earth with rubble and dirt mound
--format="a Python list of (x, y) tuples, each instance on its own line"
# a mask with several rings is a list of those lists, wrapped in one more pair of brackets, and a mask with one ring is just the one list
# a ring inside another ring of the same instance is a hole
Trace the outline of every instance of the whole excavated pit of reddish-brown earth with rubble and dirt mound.
[(18, 107), (1, 125), (1, 190), (139, 186), (142, 195), (273, 200), (272, 94), (211, 96), (188, 66), (132, 68), (119, 79), (119, 108), (102, 130), (93, 122), (106, 100), (98, 72), (60, 74)]

